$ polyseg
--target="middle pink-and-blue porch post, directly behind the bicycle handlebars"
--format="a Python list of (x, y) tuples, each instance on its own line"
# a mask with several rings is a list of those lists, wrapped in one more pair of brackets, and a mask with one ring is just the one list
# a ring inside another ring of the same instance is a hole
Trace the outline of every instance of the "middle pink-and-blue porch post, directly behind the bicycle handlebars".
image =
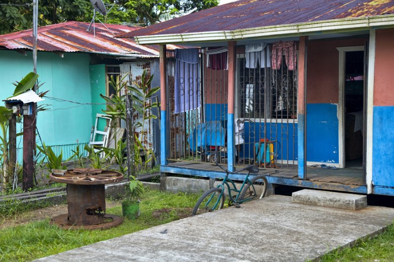
[(235, 57), (236, 41), (228, 42), (229, 48), (229, 101), (227, 110), (227, 148), (228, 148), (228, 167), (231, 172), (235, 171), (235, 131), (234, 131), (234, 90), (235, 90)]

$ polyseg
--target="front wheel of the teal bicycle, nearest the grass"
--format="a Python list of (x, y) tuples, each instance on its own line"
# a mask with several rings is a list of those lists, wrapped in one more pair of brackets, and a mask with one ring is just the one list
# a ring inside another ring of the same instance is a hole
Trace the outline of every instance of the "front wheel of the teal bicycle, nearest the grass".
[(197, 201), (197, 204), (193, 208), (192, 216), (222, 209), (224, 203), (225, 198), (222, 196), (222, 189), (217, 187), (211, 188)]

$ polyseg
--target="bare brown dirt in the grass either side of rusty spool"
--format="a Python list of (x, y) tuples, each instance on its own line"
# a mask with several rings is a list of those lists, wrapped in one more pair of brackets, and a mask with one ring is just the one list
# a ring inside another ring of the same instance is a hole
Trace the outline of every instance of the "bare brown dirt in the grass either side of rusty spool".
[[(105, 205), (106, 208), (109, 208), (120, 205), (120, 202), (107, 200)], [(54, 216), (66, 214), (67, 212), (67, 204), (57, 204), (54, 206), (38, 208), (12, 217), (7, 217), (5, 219), (0, 218), (0, 229), (25, 225), (33, 221), (49, 219)]]

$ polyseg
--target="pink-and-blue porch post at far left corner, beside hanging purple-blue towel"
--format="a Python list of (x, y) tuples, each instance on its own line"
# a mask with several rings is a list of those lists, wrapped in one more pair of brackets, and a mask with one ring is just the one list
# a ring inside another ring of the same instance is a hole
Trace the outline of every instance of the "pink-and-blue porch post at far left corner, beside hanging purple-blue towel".
[(160, 107), (161, 107), (161, 119), (160, 119), (160, 165), (164, 166), (167, 164), (167, 111), (166, 111), (166, 70), (165, 70), (165, 52), (166, 46), (160, 45)]

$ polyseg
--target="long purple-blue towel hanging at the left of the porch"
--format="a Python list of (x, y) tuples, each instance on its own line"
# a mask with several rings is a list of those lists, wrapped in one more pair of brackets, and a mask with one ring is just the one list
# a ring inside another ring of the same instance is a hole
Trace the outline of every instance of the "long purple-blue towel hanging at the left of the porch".
[(198, 49), (175, 49), (175, 114), (200, 106)]

